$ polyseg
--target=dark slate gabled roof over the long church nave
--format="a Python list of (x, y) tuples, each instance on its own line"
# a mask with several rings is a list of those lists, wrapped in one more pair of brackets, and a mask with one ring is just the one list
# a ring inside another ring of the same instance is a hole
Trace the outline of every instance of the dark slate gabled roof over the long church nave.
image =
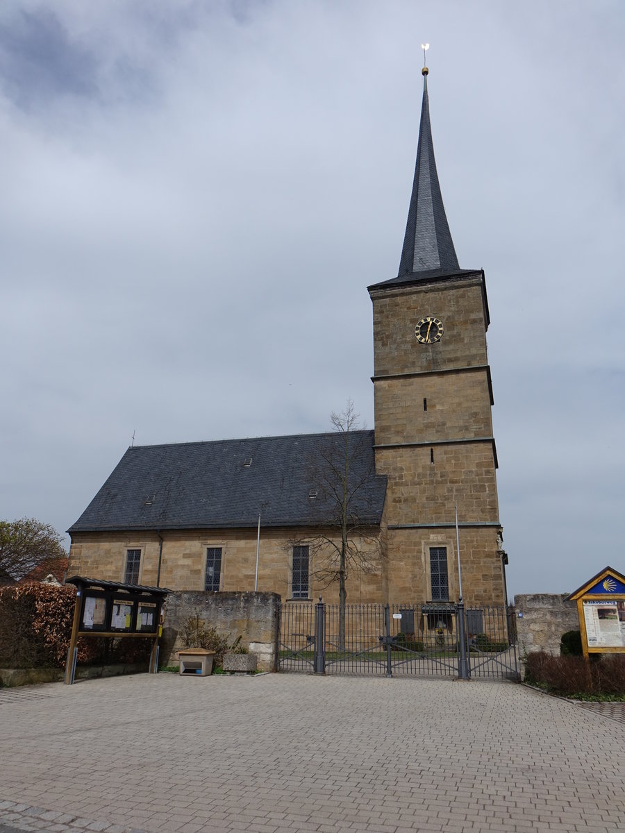
[[(256, 526), (320, 526), (331, 511), (309, 492), (322, 484), (314, 470), (319, 450), (336, 432), (256, 439), (134, 446), (122, 456), (87, 509), (68, 530), (165, 530)], [(353, 481), (364, 485), (353, 501), (359, 521), (380, 523), (386, 477), (376, 476), (373, 431), (353, 431), (363, 453)], [(251, 461), (249, 465), (246, 462)]]

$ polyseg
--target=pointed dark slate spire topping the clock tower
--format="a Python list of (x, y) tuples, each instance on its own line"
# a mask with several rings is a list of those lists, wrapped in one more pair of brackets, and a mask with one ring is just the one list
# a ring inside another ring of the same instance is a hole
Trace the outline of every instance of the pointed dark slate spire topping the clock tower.
[(453, 271), (458, 269), (458, 257), (449, 232), (441, 187), (438, 184), (430, 107), (428, 102), (428, 67), (423, 67), (423, 104), (414, 171), (413, 193), (408, 208), (406, 236), (398, 277), (430, 269)]

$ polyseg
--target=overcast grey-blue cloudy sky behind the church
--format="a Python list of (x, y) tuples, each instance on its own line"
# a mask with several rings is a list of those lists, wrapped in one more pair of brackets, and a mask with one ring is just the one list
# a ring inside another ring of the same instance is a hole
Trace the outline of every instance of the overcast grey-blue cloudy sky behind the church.
[(373, 427), (421, 107), (484, 268), (508, 591), (625, 571), (621, 0), (0, 6), (0, 517), (133, 441)]

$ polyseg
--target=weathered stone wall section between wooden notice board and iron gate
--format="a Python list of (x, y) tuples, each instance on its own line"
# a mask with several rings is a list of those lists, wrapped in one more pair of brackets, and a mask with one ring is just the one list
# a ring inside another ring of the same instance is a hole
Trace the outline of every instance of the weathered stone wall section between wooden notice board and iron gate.
[(241, 645), (258, 656), (261, 671), (276, 671), (279, 606), (280, 596), (276, 593), (170, 593), (159, 665), (176, 664), (176, 651), (184, 647), (179, 636), (184, 622), (190, 616), (199, 616), (220, 634), (228, 636), (231, 643), (241, 636)]

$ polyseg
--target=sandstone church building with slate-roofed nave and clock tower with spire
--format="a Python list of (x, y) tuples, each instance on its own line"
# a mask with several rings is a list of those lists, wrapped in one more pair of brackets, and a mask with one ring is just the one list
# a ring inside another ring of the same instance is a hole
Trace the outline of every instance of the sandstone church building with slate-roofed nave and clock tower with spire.
[(427, 67), (398, 275), (368, 292), (374, 431), (347, 415), (331, 433), (128, 448), (69, 529), (69, 574), (392, 604), (458, 601), (462, 581), (469, 604), (505, 604), (486, 282), (458, 265)]

